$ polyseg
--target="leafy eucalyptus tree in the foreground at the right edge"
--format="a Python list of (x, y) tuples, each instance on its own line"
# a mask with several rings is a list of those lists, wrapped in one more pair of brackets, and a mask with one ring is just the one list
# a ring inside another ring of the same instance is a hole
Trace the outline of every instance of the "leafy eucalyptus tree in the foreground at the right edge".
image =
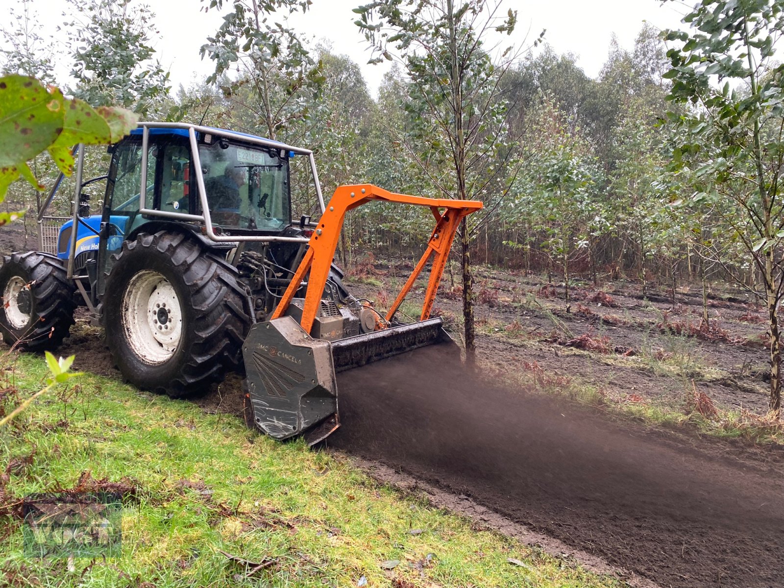
[[(742, 244), (757, 267), (761, 284), (751, 289), (768, 309), (770, 409), (779, 414), (784, 66), (775, 52), (784, 31), (784, 0), (702, 0), (684, 22), (690, 32), (666, 33), (674, 44), (665, 75), (673, 84), (670, 99), (688, 105), (685, 114), (669, 114), (688, 130), (673, 151), (673, 169), (693, 170), (700, 189), (691, 204), (716, 210), (727, 236)], [(723, 85), (714, 86), (712, 78)], [(744, 284), (736, 267), (717, 261)]]

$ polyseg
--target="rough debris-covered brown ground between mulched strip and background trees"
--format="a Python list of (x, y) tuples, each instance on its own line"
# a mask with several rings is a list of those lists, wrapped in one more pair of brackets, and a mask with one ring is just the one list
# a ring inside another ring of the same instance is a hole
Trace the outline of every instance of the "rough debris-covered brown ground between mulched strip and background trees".
[[(376, 267), (369, 276), (351, 274), (345, 280), (352, 292), (379, 301), (394, 299), (410, 268)], [(764, 312), (744, 292), (714, 291), (708, 310), (712, 335), (673, 334), (664, 325), (699, 327), (702, 294), (684, 287), (676, 304), (668, 292), (648, 284), (614, 282), (604, 287), (572, 288), (564, 299), (561, 285), (550, 285), (543, 295), (539, 277), (477, 268), (477, 352), (481, 363), (513, 372), (522, 361), (536, 361), (554, 376), (595, 385), (615, 397), (636, 394), (646, 399), (683, 405), (691, 380), (724, 408), (745, 408), (762, 414), (768, 409), (768, 350)], [(381, 285), (368, 285), (367, 278)], [(419, 287), (417, 287), (419, 286)], [(436, 310), (459, 339), (462, 314), (459, 294), (442, 281)], [(421, 303), (425, 283), (418, 281), (408, 300)], [(591, 301), (606, 292), (612, 306)], [(575, 354), (569, 339), (606, 337), (609, 354)], [(622, 357), (632, 350), (631, 357)]]

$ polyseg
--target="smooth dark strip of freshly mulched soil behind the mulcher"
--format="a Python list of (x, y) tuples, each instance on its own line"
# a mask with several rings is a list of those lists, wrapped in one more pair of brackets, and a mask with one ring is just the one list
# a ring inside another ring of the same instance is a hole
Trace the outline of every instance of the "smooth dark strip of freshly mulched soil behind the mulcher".
[(437, 348), (339, 374), (328, 445), (469, 495), (662, 586), (782, 586), (774, 458), (674, 442), (495, 387)]

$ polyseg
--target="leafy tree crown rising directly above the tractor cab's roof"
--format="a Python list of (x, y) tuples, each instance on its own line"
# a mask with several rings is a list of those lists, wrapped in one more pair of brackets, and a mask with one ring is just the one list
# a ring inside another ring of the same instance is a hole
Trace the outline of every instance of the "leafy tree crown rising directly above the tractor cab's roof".
[[(309, 0), (234, 0), (218, 31), (201, 45), (218, 82), (234, 108), (247, 111), (252, 129), (270, 139), (293, 140), (302, 132), (324, 77), (296, 31), (270, 18), (278, 13), (307, 11)], [(207, 9), (223, 9), (212, 0)], [(279, 19), (282, 20), (282, 19)]]

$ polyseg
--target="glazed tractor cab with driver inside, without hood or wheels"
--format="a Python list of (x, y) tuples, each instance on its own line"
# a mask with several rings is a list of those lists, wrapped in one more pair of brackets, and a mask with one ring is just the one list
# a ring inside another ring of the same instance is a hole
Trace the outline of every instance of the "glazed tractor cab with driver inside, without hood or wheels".
[(143, 139), (136, 129), (114, 147), (106, 205), (109, 216), (123, 217), (124, 233), (158, 218), (194, 220), (188, 216), (205, 211), (218, 234), (280, 234), (291, 224), (289, 149), (209, 132), (196, 133), (194, 148), (184, 129), (153, 128), (146, 145)]

